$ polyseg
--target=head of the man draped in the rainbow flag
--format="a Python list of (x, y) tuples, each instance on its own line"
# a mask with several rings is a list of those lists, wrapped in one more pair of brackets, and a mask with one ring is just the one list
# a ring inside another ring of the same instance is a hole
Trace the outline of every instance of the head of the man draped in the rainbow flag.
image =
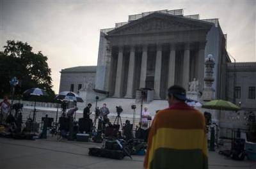
[(179, 85), (173, 85), (168, 89), (169, 105), (173, 105), (173, 103), (176, 102), (184, 102), (186, 100), (186, 90), (183, 87)]

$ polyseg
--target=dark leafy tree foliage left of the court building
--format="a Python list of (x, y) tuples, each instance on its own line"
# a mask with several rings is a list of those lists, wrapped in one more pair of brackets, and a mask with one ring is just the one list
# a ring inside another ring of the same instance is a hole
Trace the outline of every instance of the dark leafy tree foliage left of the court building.
[(39, 87), (45, 89), (49, 96), (52, 91), (51, 69), (47, 64), (47, 56), (42, 52), (34, 53), (28, 43), (8, 40), (4, 51), (0, 52), (0, 97), (10, 96), (10, 80), (17, 77), (21, 85), (16, 87), (20, 96), (26, 89)]

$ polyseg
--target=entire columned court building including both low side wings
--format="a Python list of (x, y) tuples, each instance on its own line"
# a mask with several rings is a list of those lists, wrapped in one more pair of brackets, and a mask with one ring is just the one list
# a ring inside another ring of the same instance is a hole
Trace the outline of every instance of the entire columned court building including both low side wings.
[[(253, 111), (256, 63), (232, 62), (226, 47), (227, 34), (217, 18), (200, 19), (199, 15), (184, 15), (183, 10), (129, 15), (128, 22), (100, 30), (97, 66), (61, 70), (60, 92), (79, 92), (86, 102), (93, 102), (95, 96), (106, 101), (134, 100), (138, 89), (144, 88), (150, 104), (166, 99), (173, 84), (189, 91), (189, 82), (195, 79), (196, 92), (202, 96), (205, 59), (212, 55), (212, 98), (230, 100)], [(198, 101), (202, 101), (200, 96)]]

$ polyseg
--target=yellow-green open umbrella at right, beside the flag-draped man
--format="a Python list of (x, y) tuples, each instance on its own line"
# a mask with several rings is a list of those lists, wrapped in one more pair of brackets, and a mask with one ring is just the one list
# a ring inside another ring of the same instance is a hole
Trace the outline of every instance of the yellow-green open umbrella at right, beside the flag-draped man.
[(209, 108), (209, 109), (215, 109), (215, 110), (233, 110), (233, 111), (240, 110), (240, 107), (237, 107), (237, 105), (235, 105), (234, 103), (231, 103), (230, 101), (225, 101), (222, 99), (215, 99), (207, 103), (204, 103), (202, 105), (202, 108)]

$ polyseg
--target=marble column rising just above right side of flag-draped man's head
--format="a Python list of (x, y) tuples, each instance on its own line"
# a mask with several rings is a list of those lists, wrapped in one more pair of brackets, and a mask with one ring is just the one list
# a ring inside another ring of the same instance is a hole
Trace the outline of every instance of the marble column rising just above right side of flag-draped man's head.
[(189, 60), (190, 59), (190, 50), (189, 43), (185, 44), (184, 47), (184, 58), (183, 58), (183, 78), (182, 85), (188, 91), (188, 83), (189, 83)]

